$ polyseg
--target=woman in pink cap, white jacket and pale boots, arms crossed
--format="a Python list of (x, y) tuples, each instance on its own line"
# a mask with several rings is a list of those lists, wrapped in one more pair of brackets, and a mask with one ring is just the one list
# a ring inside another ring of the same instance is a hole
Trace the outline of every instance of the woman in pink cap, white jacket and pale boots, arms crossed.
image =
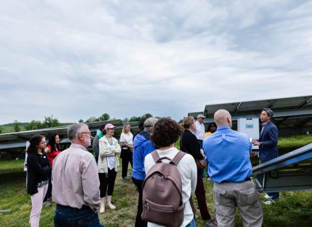
[[(105, 198), (107, 206), (110, 209), (116, 209), (112, 204), (112, 195), (114, 191), (115, 179), (119, 169), (119, 160), (117, 154), (121, 148), (116, 138), (113, 137), (116, 126), (106, 124), (106, 135), (98, 141), (99, 156), (98, 156), (98, 177), (100, 182), (100, 198), (101, 206), (100, 213), (105, 212)], [(106, 195), (107, 192), (107, 195)]]

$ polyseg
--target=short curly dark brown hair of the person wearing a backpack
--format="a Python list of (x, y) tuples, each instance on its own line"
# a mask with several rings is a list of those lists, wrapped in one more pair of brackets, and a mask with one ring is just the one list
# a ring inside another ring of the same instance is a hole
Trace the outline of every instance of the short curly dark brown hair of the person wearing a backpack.
[(154, 124), (151, 141), (157, 147), (169, 146), (176, 143), (183, 129), (176, 121), (171, 118), (161, 118)]

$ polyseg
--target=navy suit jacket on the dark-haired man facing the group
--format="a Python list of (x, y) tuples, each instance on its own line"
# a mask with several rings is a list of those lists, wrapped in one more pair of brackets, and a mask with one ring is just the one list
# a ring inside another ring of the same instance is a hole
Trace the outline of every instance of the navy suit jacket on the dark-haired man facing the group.
[(278, 130), (275, 124), (271, 121), (264, 126), (258, 141), (261, 142), (261, 145), (259, 146), (259, 158), (261, 162), (267, 162), (278, 156)]

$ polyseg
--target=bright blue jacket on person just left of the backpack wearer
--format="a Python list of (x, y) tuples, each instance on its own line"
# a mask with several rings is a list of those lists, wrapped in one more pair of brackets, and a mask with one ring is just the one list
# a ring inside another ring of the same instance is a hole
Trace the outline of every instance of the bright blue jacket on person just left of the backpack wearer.
[(144, 160), (145, 156), (156, 150), (156, 147), (150, 140), (151, 133), (142, 131), (135, 137), (133, 141), (133, 166), (131, 176), (137, 180), (144, 181), (145, 168)]

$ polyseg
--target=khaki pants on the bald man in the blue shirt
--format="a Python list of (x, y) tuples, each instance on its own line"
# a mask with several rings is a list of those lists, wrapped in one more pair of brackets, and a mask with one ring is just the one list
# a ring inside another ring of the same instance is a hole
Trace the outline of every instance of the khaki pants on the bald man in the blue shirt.
[(262, 226), (261, 200), (252, 181), (215, 183), (214, 200), (218, 227), (234, 227), (236, 206), (242, 216), (243, 227)]

